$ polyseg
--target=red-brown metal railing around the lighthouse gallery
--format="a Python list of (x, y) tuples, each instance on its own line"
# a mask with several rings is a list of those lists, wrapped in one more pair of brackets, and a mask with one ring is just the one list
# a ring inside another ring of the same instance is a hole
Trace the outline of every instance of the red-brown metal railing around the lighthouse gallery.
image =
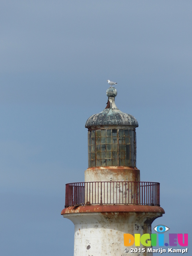
[(65, 208), (90, 204), (160, 206), (158, 182), (76, 182), (66, 184)]

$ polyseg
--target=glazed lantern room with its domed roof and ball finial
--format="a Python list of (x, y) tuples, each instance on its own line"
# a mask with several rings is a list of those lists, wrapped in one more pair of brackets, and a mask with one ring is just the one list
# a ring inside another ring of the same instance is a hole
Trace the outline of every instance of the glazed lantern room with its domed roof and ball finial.
[(88, 167), (136, 167), (136, 130), (134, 116), (121, 112), (115, 104), (117, 90), (108, 88), (106, 108), (88, 118)]

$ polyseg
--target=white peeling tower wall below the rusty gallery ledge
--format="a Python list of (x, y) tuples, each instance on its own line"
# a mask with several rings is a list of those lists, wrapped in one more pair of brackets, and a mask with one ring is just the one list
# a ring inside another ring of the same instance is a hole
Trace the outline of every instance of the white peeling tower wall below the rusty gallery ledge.
[[(141, 235), (150, 234), (151, 226), (150, 224), (144, 224), (144, 222), (149, 218), (162, 216), (162, 214), (158, 215), (154, 212), (140, 212), (140, 214), (135, 213), (134, 215), (129, 212), (124, 212), (124, 214), (92, 212), (66, 215), (75, 224), (74, 256), (131, 256), (130, 252), (124, 254), (123, 234), (134, 234), (135, 231)], [(95, 225), (96, 222), (97, 225)], [(79, 229), (81, 234), (78, 234)], [(136, 247), (133, 245), (132, 248)], [(141, 248), (143, 247), (141, 246)], [(139, 256), (139, 254), (134, 253), (136, 256)], [(149, 255), (148, 253), (142, 254), (142, 256)]]

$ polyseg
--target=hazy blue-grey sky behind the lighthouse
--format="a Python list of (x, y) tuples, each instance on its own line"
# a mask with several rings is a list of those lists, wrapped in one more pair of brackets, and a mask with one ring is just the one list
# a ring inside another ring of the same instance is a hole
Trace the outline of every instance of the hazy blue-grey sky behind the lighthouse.
[(160, 182), (152, 227), (192, 234), (191, 0), (1, 0), (0, 45), (0, 255), (73, 255), (65, 184), (84, 181), (108, 79), (141, 180)]

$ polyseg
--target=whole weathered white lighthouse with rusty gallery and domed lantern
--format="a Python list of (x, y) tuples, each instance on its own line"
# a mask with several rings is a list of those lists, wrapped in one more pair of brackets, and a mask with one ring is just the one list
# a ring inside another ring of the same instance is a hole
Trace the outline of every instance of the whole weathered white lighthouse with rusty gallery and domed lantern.
[(61, 214), (75, 225), (74, 256), (151, 256), (142, 244), (131, 248), (145, 248), (145, 252), (126, 253), (124, 234), (151, 234), (152, 222), (164, 214), (160, 184), (140, 181), (136, 168), (138, 122), (116, 107), (116, 88), (108, 88), (106, 94), (106, 108), (85, 124), (85, 182), (66, 184)]

